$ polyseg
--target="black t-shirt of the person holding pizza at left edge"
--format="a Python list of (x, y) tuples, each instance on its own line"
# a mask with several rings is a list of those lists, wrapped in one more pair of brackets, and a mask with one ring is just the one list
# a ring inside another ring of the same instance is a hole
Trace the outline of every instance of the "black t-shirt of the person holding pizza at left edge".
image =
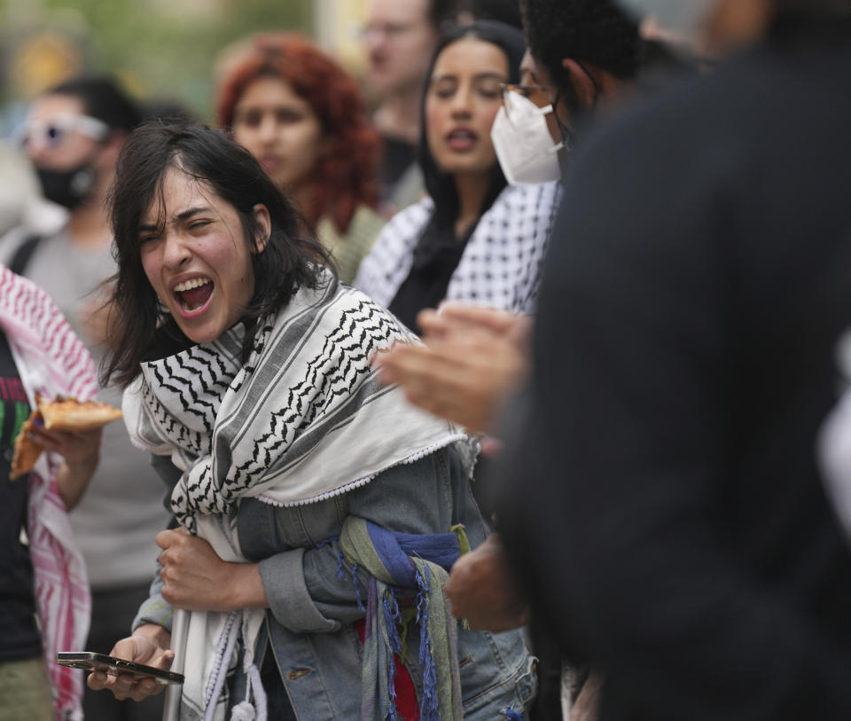
[(29, 416), (29, 402), (5, 333), (0, 332), (0, 662), (42, 653), (35, 624), (33, 565), (21, 543), (27, 526), (27, 476), (9, 480), (15, 436)]

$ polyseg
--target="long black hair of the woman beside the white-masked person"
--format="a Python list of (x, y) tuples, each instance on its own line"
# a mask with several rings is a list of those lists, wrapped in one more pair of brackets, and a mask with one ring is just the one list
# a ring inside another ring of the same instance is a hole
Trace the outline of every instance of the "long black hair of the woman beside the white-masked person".
[[(441, 52), (446, 50), (452, 43), (457, 43), (457, 41), (465, 37), (474, 37), (485, 43), (492, 43), (503, 51), (505, 59), (508, 61), (508, 82), (519, 82), (520, 61), (523, 59), (523, 53), (526, 52), (526, 43), (519, 29), (496, 20), (477, 20), (470, 25), (452, 27), (441, 36), (437, 46), (434, 48), (432, 59), (426, 71), (426, 82), (423, 85), (417, 160), (420, 168), (423, 170), (426, 191), (432, 197), (432, 200), (434, 200), (437, 221), (441, 225), (449, 224), (449, 226), (451, 226), (451, 223), (454, 223), (458, 215), (458, 193), (452, 176), (441, 170), (437, 162), (434, 161), (432, 151), (428, 147), (428, 137), (426, 135), (426, 101), (428, 99), (428, 90), (431, 87), (434, 66), (437, 64), (437, 59), (441, 56)], [(499, 162), (495, 160), (494, 167), (490, 173), (488, 193), (480, 209), (480, 215), (490, 208), (491, 204), (496, 200), (496, 196), (503, 191), (505, 185), (506, 180), (503, 175), (503, 169), (500, 168)]]

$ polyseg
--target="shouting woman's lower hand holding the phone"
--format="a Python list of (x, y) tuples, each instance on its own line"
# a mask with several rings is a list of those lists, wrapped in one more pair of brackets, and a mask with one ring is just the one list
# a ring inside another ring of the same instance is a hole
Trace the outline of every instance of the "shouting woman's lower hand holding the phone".
[[(174, 651), (168, 648), (170, 643), (171, 635), (162, 626), (156, 623), (145, 623), (139, 626), (136, 631), (133, 631), (132, 636), (121, 639), (115, 644), (109, 654), (127, 661), (144, 663), (157, 669), (168, 670), (175, 660)], [(104, 689), (112, 691), (119, 701), (124, 699), (142, 701), (148, 696), (160, 694), (164, 688), (153, 678), (134, 680), (133, 674), (130, 673), (113, 676), (105, 671), (92, 671), (86, 683), (92, 691)]]

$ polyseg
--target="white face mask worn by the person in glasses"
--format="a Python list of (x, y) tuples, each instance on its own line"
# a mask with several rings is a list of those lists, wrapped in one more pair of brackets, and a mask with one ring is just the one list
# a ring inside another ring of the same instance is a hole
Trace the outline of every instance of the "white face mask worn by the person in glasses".
[(506, 93), (504, 103), (496, 113), (490, 138), (505, 179), (512, 185), (558, 180), (558, 151), (564, 144), (554, 143), (547, 127), (552, 106), (538, 107), (517, 92)]

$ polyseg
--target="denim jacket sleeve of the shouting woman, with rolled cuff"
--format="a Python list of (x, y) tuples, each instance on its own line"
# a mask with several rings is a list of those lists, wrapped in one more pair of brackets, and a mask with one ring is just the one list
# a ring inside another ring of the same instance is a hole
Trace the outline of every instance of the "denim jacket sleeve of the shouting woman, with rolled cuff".
[[(345, 513), (394, 531), (446, 532), (456, 522), (453, 480), (457, 483), (462, 474), (454, 451), (437, 451), (415, 463), (390, 468), (363, 488), (349, 491), (344, 497)], [(299, 513), (301, 521), (303, 509), (287, 510)], [(285, 628), (294, 632), (335, 631), (340, 623), (363, 617), (358, 594), (365, 603), (369, 576), (356, 572), (355, 584), (353, 569), (345, 561), (340, 564), (336, 538), (319, 547), (316, 545), (323, 538), (311, 540), (313, 544), (308, 547), (262, 560), (263, 586), (273, 615)]]

